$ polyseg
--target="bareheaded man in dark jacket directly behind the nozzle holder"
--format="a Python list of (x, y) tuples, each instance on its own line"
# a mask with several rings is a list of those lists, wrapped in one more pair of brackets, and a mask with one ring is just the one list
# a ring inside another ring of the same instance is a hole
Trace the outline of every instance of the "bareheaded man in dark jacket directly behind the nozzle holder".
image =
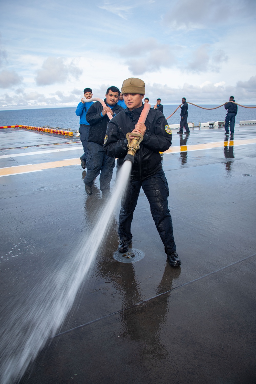
[(115, 166), (115, 158), (105, 155), (103, 141), (106, 135), (107, 123), (109, 122), (107, 112), (110, 112), (112, 116), (116, 116), (120, 111), (124, 111), (124, 108), (117, 105), (119, 96), (120, 91), (117, 87), (107, 88), (106, 99), (104, 100), (106, 107), (103, 108), (101, 103), (96, 101), (86, 115), (86, 119), (90, 124), (87, 146), (88, 159), (86, 160), (87, 173), (84, 178), (85, 190), (88, 195), (92, 194), (93, 181), (99, 174), (101, 174), (99, 187), (102, 195), (110, 194), (109, 185)]

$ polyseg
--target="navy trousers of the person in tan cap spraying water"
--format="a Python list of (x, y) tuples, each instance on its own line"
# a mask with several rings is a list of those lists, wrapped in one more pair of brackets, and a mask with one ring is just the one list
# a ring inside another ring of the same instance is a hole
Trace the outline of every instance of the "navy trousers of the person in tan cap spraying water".
[(170, 253), (175, 251), (176, 245), (173, 238), (172, 217), (168, 209), (167, 197), (169, 196), (169, 189), (163, 170), (145, 180), (130, 179), (126, 195), (121, 201), (118, 229), (120, 240), (132, 239), (130, 226), (133, 212), (137, 205), (140, 187), (142, 187), (149, 200), (150, 211), (161, 240), (164, 243), (165, 253), (170, 255)]

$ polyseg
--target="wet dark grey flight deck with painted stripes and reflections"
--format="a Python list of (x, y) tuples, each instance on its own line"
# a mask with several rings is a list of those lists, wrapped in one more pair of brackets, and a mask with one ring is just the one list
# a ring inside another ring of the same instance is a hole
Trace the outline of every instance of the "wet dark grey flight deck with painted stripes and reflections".
[[(84, 190), (81, 142), (0, 130), (1, 312), (8, 318), (93, 225), (99, 178)], [(23, 384), (255, 383), (256, 126), (191, 131), (163, 155), (180, 268), (140, 191), (132, 222), (138, 262), (113, 258), (118, 208), (93, 272), (59, 336)], [(111, 187), (114, 185), (114, 169)]]

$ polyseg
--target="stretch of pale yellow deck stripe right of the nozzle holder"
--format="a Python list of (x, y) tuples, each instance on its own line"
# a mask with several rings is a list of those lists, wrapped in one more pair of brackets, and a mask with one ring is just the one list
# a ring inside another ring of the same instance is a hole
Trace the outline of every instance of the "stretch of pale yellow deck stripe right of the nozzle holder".
[(205, 144), (175, 146), (175, 147), (170, 147), (164, 153), (201, 151), (202, 149), (221, 148), (221, 147), (227, 147), (228, 145), (233, 147), (233, 146), (246, 145), (246, 144), (256, 144), (256, 139), (230, 140), (229, 144), (228, 144), (228, 140), (225, 140), (225, 141), (215, 141), (215, 142), (205, 143)]

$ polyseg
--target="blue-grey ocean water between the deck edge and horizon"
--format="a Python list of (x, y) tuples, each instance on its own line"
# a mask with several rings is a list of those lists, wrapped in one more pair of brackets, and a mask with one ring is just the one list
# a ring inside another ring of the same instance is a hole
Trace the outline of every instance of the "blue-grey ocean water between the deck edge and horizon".
[[(170, 116), (178, 105), (164, 105), (165, 117)], [(202, 105), (205, 108), (214, 108), (216, 105)], [(49, 125), (50, 127), (60, 127), (63, 129), (77, 130), (79, 129), (79, 118), (75, 114), (76, 107), (69, 108), (40, 108), (40, 109), (17, 109), (12, 111), (0, 111), (0, 126), (5, 125), (31, 125), (41, 127)], [(224, 121), (226, 110), (223, 107), (207, 111), (195, 107), (188, 106), (188, 122), (206, 121)], [(236, 123), (239, 120), (256, 120), (256, 108), (248, 109), (238, 107), (236, 115)], [(180, 109), (168, 119), (169, 124), (177, 124), (180, 122)]]

